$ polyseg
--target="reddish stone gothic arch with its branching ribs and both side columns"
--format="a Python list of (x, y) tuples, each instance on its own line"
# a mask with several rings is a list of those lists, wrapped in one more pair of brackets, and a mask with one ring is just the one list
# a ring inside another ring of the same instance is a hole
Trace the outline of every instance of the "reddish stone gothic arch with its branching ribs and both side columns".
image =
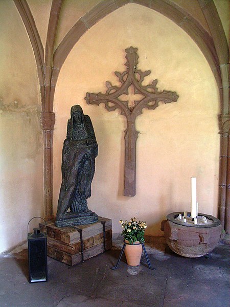
[[(42, 129), (44, 137), (44, 214), (46, 218), (53, 216), (53, 174), (52, 174), (52, 141), (55, 114), (53, 100), (55, 86), (61, 67), (79, 38), (100, 19), (118, 8), (130, 3), (139, 4), (153, 9), (170, 18), (197, 43), (201, 52), (212, 69), (220, 90), (221, 114), (219, 117), (221, 146), (220, 146), (220, 188), (219, 188), (219, 217), (229, 233), (229, 98), (228, 98), (228, 60), (229, 51), (223, 27), (213, 0), (197, 0), (211, 35), (188, 14), (185, 10), (169, 0), (103, 0), (93, 9), (82, 16), (72, 29), (65, 35), (57, 50), (54, 52), (54, 40), (62, 0), (53, 0), (47, 43), (44, 51), (40, 37), (26, 0), (14, 0), (15, 5), (25, 24), (37, 63), (42, 101)], [(226, 222), (225, 222), (226, 221)]]

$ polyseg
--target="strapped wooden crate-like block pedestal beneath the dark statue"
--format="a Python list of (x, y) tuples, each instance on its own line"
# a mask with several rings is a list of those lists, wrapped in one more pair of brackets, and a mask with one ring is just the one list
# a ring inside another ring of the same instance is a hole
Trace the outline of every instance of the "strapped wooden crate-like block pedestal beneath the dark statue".
[(57, 227), (47, 222), (48, 256), (74, 266), (112, 247), (112, 221), (99, 217), (94, 224)]

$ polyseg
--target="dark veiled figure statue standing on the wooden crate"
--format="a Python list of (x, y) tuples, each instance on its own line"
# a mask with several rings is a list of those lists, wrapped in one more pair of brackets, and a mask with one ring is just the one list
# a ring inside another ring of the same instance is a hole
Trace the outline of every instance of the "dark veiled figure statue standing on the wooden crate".
[(83, 114), (80, 105), (74, 105), (62, 149), (62, 184), (56, 226), (76, 226), (98, 221), (98, 215), (87, 206), (97, 155), (98, 144), (91, 120)]

